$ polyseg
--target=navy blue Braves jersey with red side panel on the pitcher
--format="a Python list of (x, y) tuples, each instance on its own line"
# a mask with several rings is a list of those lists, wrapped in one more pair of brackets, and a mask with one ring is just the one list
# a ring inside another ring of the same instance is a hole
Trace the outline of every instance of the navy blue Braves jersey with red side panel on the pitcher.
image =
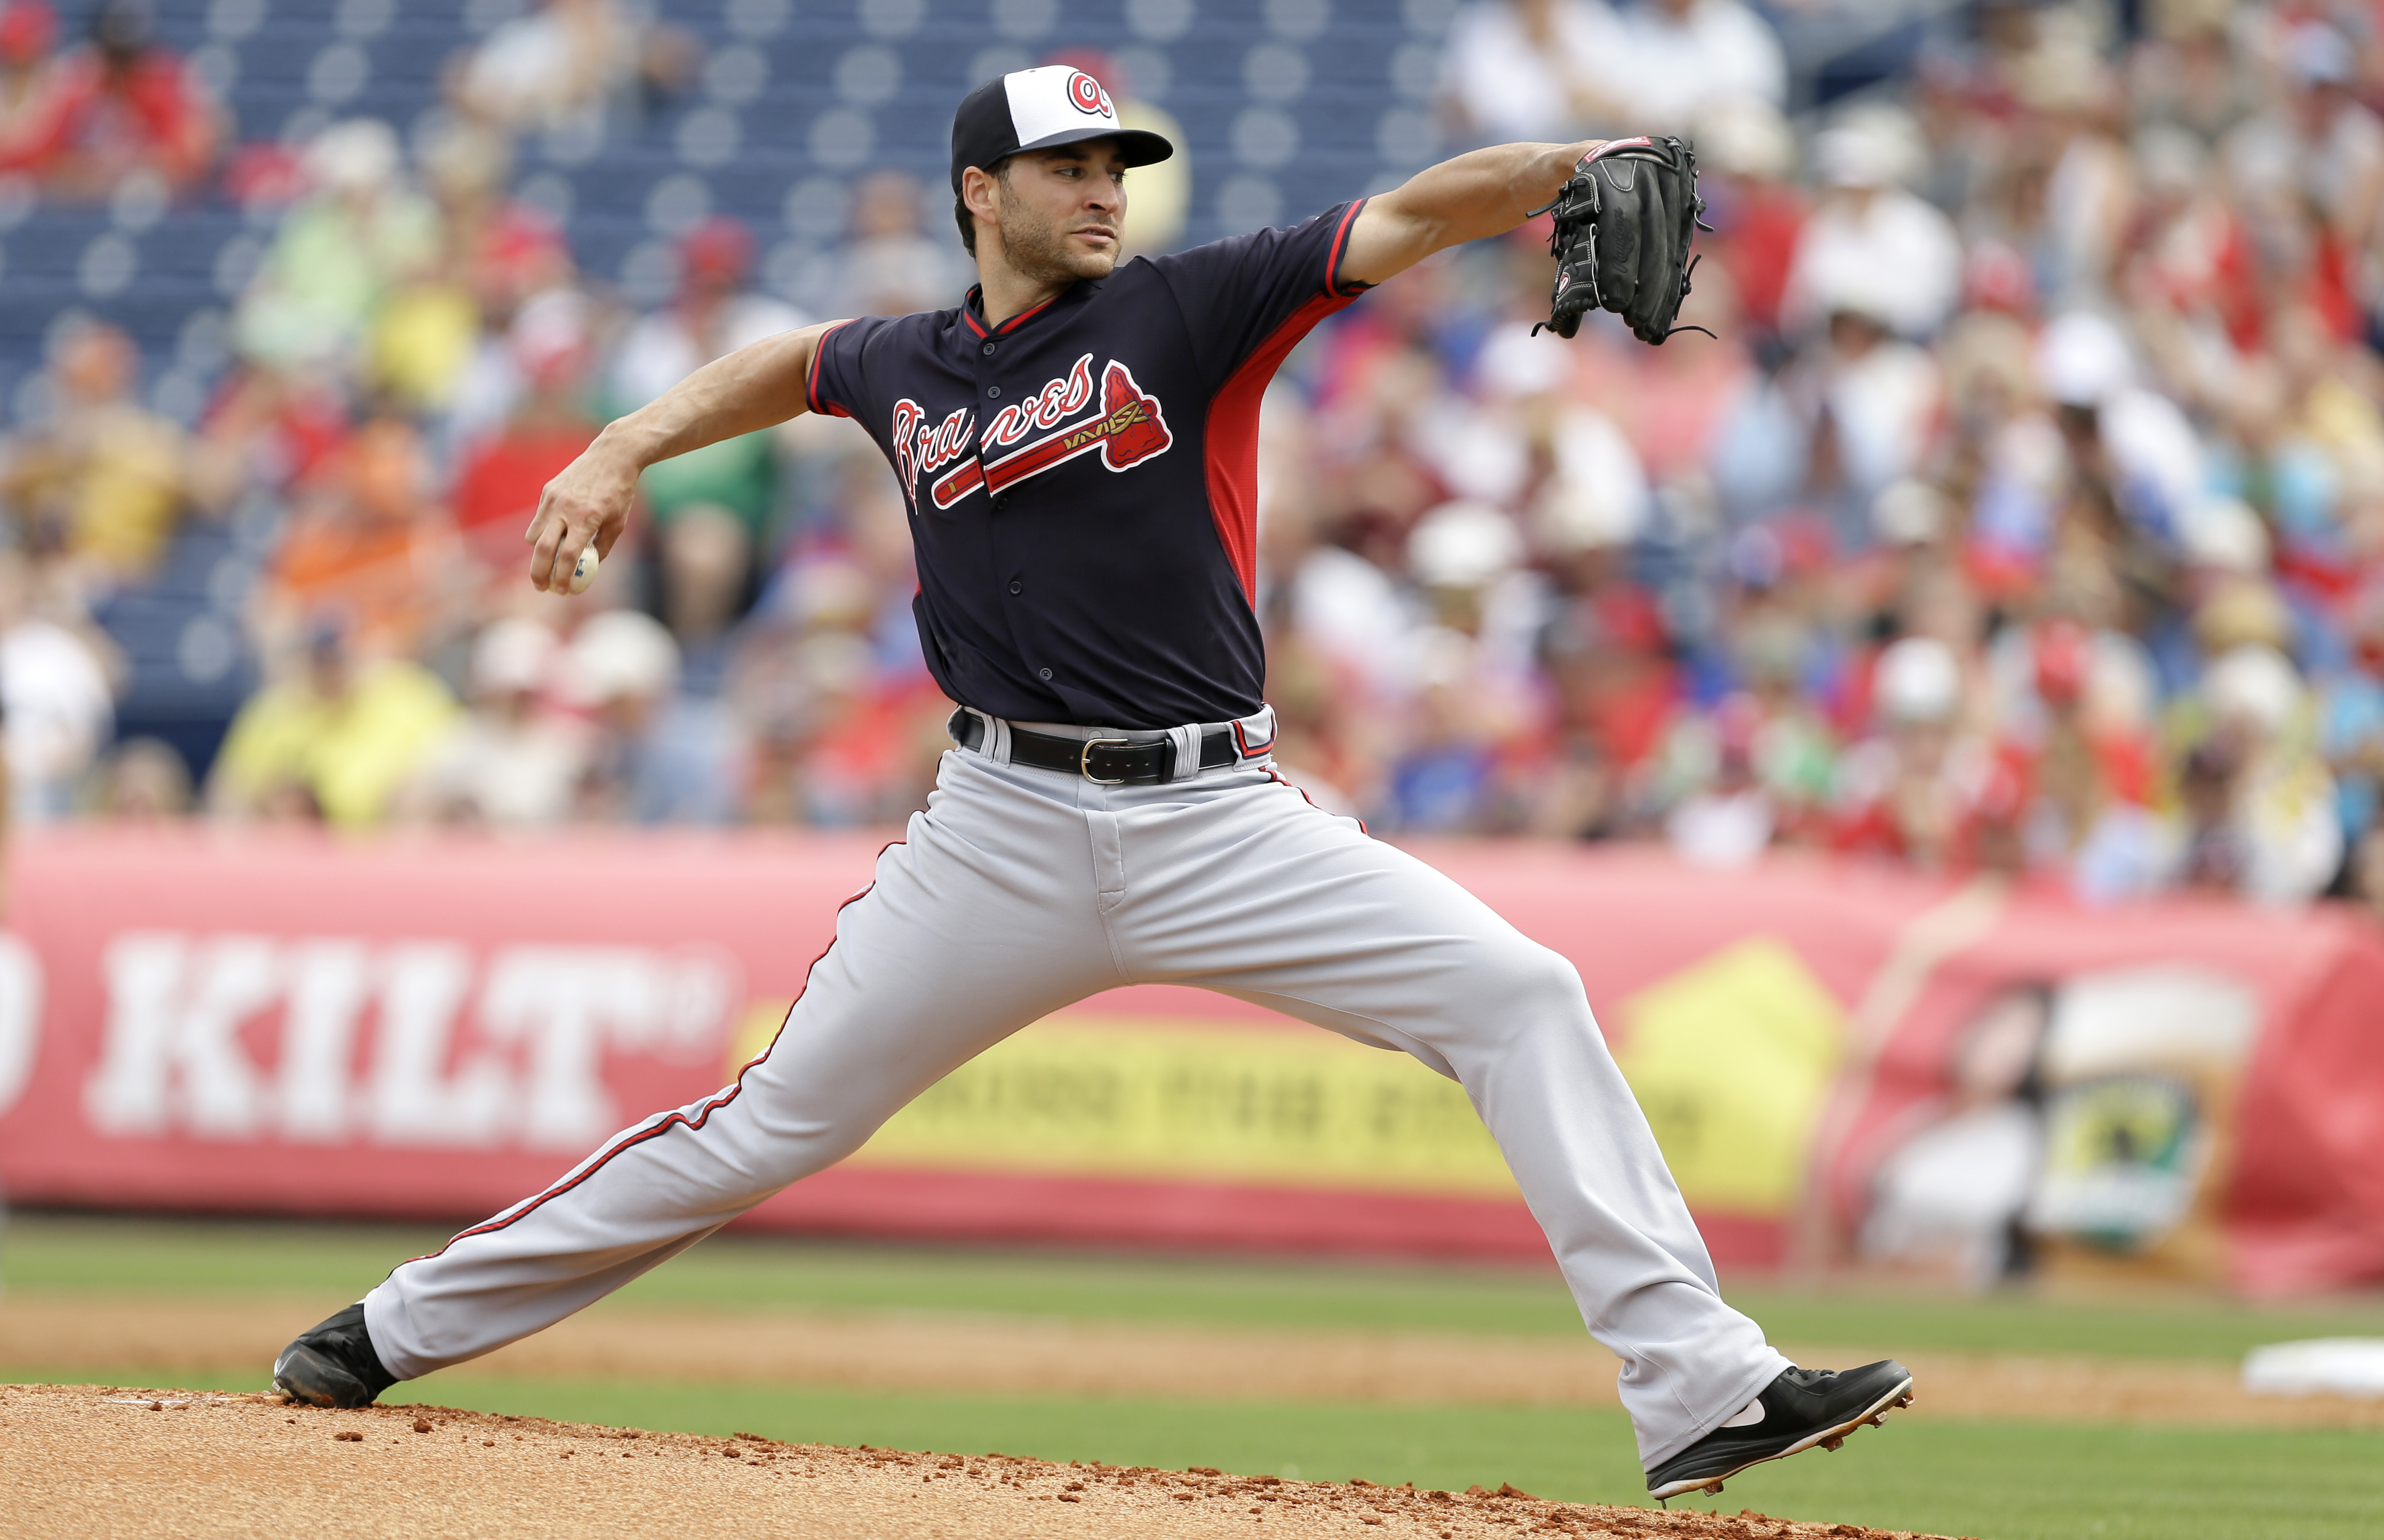
[(1259, 398), (1361, 293), (1356, 210), (1135, 257), (999, 327), (970, 293), (820, 336), (808, 405), (894, 465), (944, 694), (1101, 727), (1259, 710)]

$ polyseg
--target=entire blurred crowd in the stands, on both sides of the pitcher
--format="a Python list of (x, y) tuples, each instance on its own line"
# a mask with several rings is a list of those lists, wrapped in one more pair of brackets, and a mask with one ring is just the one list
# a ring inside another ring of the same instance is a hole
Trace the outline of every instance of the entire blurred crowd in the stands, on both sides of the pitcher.
[[(45, 14), (0, 10), (17, 176), (222, 174), (279, 217), (195, 424), (72, 319), (48, 408), (7, 429), (19, 815), (923, 806), (949, 703), (901, 493), (851, 424), (656, 467), (586, 598), (522, 579), (539, 486), (601, 422), (808, 319), (732, 219), (687, 231), (675, 298), (639, 312), (508, 195), (513, 133), (665, 88), (668, 33), (551, 0), (455, 60), (412, 155), (370, 119), (224, 155), (136, 7), (64, 52)], [(2374, 10), (1991, 0), (1888, 86), (1793, 114), (1743, 0), (1478, 0), (1440, 69), (1454, 148), (1693, 136), (1714, 234), (1681, 319), (1714, 336), (1533, 336), (1542, 222), (1295, 353), (1259, 603), (1278, 756), (1318, 803), (1712, 865), (1805, 846), (2086, 901), (2384, 906)], [(958, 298), (935, 207), (904, 174), (856, 184), (842, 312)], [(193, 520), (269, 529), (262, 684), (205, 768), (114, 741), (91, 622)]]

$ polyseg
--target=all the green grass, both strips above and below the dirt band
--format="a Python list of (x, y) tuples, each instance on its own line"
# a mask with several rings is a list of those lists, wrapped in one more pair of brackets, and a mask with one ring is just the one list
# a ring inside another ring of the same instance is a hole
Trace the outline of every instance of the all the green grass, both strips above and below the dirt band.
[[(443, 1232), (19, 1216), (0, 1280), (24, 1294), (358, 1297)], [(1910, 1352), (2234, 1359), (2298, 1335), (2384, 1335), (2384, 1302), (2305, 1309), (2220, 1299), (1955, 1299), (1731, 1287), (1783, 1342)], [(715, 1237), (598, 1309), (899, 1309), (1264, 1328), (1581, 1330), (1547, 1268), (1268, 1263), (1061, 1252), (949, 1252)], [(0, 1309), (7, 1309), (0, 1302)], [(300, 1309), (303, 1314), (303, 1309)], [(0, 1364), (0, 1380), (129, 1383), (145, 1371)], [(193, 1385), (205, 1387), (205, 1385)], [(260, 1390), (257, 1378), (215, 1380)], [(1221, 1466), (1428, 1488), (1502, 1480), (1578, 1502), (1645, 1502), (1614, 1411), (923, 1395), (663, 1380), (501, 1380), (465, 1371), (398, 1395), (453, 1407), (691, 1433)], [(2334, 1540), (2384, 1528), (2384, 1435), (1893, 1418), (1700, 1507), (1986, 1540)]]

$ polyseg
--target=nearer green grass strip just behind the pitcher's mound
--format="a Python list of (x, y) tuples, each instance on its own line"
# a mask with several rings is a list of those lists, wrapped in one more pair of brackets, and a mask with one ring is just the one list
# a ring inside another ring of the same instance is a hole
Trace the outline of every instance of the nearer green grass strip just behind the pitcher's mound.
[[(122, 1383), (105, 1368), (0, 1378)], [(136, 1376), (138, 1378), (138, 1376)], [(229, 1378), (217, 1390), (257, 1390)], [(1221, 1466), (1421, 1488), (1502, 1480), (1569, 1502), (1647, 1504), (1616, 1411), (906, 1395), (441, 1373), (391, 1399), (687, 1433), (894, 1449)], [(1676, 1504), (1683, 1507), (1683, 1504)], [(2365, 1540), (2384, 1514), (2384, 1435), (2217, 1433), (1891, 1418), (1838, 1454), (1750, 1471), (1702, 1509), (1981, 1540)]]

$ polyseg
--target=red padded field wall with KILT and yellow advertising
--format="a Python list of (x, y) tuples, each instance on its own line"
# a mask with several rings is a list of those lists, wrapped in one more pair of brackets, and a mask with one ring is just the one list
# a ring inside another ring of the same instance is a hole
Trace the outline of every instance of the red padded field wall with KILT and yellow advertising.
[[(0, 932), (0, 1182), (484, 1216), (734, 1078), (877, 846), (26, 839)], [(1576, 963), (1724, 1266), (2384, 1278), (2384, 932), (2358, 915), (1418, 853)], [(1545, 1256), (1461, 1087), (1171, 987), (1025, 1027), (749, 1223)]]

